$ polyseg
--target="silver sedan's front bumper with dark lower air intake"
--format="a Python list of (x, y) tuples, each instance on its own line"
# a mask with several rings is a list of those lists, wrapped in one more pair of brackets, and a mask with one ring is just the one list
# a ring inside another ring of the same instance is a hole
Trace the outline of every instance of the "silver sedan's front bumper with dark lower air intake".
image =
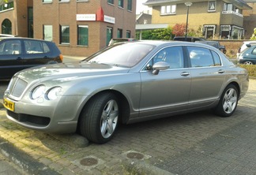
[(13, 111), (6, 109), (6, 116), (18, 125), (42, 132), (73, 133), (77, 130), (84, 96), (61, 97), (43, 103), (23, 102), (22, 99), (14, 101), (6, 95), (4, 99), (15, 105)]

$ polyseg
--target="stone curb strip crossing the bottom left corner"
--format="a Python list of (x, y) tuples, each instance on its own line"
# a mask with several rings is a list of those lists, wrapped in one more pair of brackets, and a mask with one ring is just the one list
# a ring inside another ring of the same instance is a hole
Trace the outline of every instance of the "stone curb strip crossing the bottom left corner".
[(17, 147), (14, 147), (7, 140), (0, 137), (0, 151), (3, 156), (9, 159), (9, 161), (15, 163), (24, 172), (29, 174), (45, 174), (45, 175), (57, 175), (55, 170), (45, 166), (43, 163), (38, 162), (36, 159), (30, 157), (23, 151), (20, 151)]

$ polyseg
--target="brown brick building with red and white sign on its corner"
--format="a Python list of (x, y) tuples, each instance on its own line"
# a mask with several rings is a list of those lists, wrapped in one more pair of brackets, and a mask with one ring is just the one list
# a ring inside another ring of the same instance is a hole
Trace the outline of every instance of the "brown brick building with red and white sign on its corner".
[(135, 36), (135, 0), (34, 2), (34, 38), (54, 41), (62, 54), (88, 56), (111, 38)]

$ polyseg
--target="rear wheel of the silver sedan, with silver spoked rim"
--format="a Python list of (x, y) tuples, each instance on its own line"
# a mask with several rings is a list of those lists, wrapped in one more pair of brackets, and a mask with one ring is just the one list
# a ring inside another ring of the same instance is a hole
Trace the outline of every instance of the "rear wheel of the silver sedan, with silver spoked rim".
[(215, 114), (220, 117), (231, 116), (236, 109), (239, 99), (239, 92), (237, 87), (233, 84), (229, 84), (223, 91), (220, 101), (216, 108), (214, 109)]

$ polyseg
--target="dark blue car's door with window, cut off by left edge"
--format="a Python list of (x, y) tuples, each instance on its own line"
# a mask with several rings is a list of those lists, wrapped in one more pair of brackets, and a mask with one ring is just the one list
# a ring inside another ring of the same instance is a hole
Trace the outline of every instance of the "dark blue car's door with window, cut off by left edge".
[(24, 69), (23, 58), (21, 40), (2, 40), (0, 43), (0, 78), (9, 79)]

